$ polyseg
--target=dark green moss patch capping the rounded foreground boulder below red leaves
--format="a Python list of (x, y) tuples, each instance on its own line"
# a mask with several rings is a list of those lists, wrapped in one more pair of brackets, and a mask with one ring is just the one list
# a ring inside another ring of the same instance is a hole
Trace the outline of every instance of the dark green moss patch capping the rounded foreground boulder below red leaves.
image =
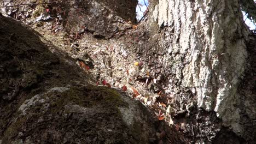
[[(84, 91), (81, 91), (81, 90)], [(96, 105), (113, 107), (118, 110), (119, 106), (128, 106), (120, 98), (120, 94), (114, 89), (107, 87), (87, 87), (75, 86), (66, 92), (50, 92), (44, 96), (51, 100), (51, 113), (56, 113), (64, 109), (67, 104), (80, 105), (83, 107), (93, 107)]]

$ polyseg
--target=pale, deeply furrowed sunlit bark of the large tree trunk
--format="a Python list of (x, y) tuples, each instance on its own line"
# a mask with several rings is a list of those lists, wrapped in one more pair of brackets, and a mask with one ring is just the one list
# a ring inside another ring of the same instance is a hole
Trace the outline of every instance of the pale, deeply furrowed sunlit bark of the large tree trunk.
[[(247, 42), (251, 34), (242, 21), (239, 2), (160, 0), (152, 3), (148, 25), (155, 29), (155, 22), (164, 31), (158, 41), (158, 46), (168, 53), (166, 60), (163, 59), (167, 63), (163, 64), (172, 65), (174, 79), (192, 89), (197, 106), (215, 111), (223, 125), (244, 136), (247, 128), (242, 122), (244, 112), (240, 104), (251, 101), (254, 94), (245, 100), (239, 87), (249, 63)], [(248, 109), (249, 119), (255, 119), (255, 108)], [(253, 122), (250, 125), (255, 127)]]

